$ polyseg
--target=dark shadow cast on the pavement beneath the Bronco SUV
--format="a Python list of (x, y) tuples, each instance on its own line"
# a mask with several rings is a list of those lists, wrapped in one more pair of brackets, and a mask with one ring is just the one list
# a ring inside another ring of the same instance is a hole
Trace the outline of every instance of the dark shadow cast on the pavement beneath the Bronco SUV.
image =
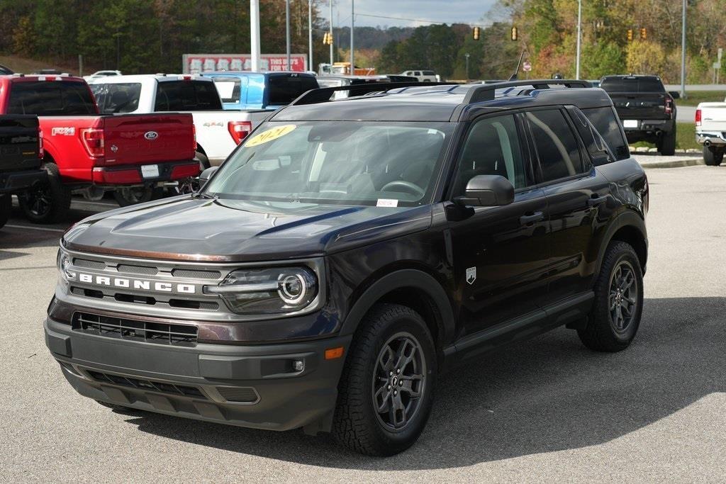
[(640, 334), (621, 353), (594, 353), (558, 329), (453, 369), (418, 443), (388, 459), (353, 454), (325, 434), (149, 413), (128, 422), (201, 446), (346, 469), (441, 469), (594, 446), (726, 391), (725, 313), (726, 298), (648, 299)]

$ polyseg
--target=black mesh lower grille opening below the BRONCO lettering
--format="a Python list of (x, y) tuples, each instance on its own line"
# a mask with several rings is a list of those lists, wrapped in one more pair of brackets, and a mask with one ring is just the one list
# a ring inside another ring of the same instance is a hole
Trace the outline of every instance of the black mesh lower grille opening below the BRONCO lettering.
[(197, 345), (197, 327), (187, 324), (152, 323), (89, 313), (73, 313), (72, 324), (76, 331), (89, 335), (160, 345)]

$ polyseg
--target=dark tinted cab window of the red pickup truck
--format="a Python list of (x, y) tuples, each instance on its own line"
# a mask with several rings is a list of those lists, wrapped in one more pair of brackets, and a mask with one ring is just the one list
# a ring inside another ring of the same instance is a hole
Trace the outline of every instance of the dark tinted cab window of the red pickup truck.
[(10, 88), (7, 114), (96, 114), (96, 103), (86, 83), (18, 82), (12, 83)]

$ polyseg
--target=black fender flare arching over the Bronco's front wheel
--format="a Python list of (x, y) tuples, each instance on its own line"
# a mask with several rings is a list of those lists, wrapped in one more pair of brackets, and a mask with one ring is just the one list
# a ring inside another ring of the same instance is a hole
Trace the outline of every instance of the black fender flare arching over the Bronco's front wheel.
[(439, 281), (417, 269), (401, 269), (381, 277), (369, 287), (353, 305), (343, 321), (340, 335), (352, 335), (370, 308), (393, 290), (411, 287), (425, 293), (439, 311), (439, 345), (444, 348), (454, 337), (454, 310)]

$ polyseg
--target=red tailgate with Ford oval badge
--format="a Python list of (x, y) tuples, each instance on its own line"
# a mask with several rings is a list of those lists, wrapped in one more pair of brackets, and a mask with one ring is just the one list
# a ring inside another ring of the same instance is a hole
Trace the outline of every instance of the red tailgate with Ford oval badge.
[(192, 160), (192, 116), (179, 113), (102, 116), (105, 163), (145, 164)]

